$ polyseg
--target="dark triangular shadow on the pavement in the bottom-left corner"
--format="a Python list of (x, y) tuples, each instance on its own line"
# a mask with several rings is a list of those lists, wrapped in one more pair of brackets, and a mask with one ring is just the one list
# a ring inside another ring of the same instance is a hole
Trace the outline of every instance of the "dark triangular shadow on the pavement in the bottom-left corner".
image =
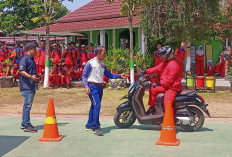
[(20, 144), (25, 142), (29, 136), (0, 136), (0, 156), (3, 156)]

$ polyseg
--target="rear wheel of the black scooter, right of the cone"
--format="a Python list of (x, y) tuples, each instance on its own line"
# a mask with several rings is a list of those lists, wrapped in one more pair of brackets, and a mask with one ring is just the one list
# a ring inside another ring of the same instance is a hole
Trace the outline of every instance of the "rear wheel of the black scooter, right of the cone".
[(188, 110), (193, 121), (190, 125), (182, 125), (181, 127), (188, 132), (198, 131), (204, 124), (204, 114), (196, 107), (190, 107)]

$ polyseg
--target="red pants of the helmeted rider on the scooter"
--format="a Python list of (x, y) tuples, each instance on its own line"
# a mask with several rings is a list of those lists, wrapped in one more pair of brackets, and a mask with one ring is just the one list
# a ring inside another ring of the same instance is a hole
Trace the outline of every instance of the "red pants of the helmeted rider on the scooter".
[(151, 87), (149, 91), (149, 101), (148, 101), (149, 106), (155, 107), (156, 96), (159, 93), (164, 93), (164, 108), (166, 107), (168, 101), (170, 101), (170, 103), (173, 104), (177, 95), (177, 91), (166, 89), (163, 86)]

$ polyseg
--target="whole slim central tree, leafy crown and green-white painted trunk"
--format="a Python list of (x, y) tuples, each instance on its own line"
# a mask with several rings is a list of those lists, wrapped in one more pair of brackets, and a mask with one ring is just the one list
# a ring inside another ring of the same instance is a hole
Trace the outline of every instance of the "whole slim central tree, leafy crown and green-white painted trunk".
[[(114, 0), (106, 0), (114, 2)], [(134, 47), (133, 47), (133, 18), (139, 12), (142, 5), (148, 0), (118, 0), (121, 3), (121, 15), (128, 17), (130, 31), (130, 80), (134, 83)]]

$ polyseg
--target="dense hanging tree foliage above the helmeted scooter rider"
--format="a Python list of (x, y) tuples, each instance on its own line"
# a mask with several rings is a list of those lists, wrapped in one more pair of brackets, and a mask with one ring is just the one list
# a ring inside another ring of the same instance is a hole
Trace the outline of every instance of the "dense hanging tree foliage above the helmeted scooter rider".
[[(141, 14), (148, 43), (175, 45), (207, 40), (214, 34), (220, 0), (150, 0)], [(148, 46), (149, 47), (149, 46)]]

